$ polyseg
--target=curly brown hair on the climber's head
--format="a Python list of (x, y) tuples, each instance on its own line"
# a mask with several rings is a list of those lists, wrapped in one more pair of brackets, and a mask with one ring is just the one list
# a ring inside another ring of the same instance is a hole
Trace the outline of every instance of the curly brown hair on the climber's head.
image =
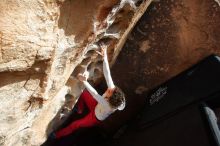
[(118, 108), (125, 103), (124, 92), (116, 86), (112, 96), (109, 97), (108, 102), (112, 108)]

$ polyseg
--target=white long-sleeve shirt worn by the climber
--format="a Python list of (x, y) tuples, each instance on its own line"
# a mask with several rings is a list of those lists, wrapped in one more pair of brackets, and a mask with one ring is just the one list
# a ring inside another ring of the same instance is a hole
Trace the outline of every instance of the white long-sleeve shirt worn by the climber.
[[(107, 52), (104, 56), (103, 61), (103, 73), (104, 77), (107, 83), (108, 88), (115, 88), (115, 85), (112, 81), (109, 64), (108, 64), (108, 58), (107, 58)], [(109, 105), (109, 102), (105, 99), (105, 95), (102, 96), (98, 94), (98, 92), (89, 84), (87, 81), (83, 81), (85, 87), (90, 92), (90, 94), (95, 98), (95, 100), (98, 102), (98, 104), (95, 107), (95, 115), (97, 119), (100, 121), (105, 120), (110, 114), (112, 114), (116, 109), (111, 108)]]

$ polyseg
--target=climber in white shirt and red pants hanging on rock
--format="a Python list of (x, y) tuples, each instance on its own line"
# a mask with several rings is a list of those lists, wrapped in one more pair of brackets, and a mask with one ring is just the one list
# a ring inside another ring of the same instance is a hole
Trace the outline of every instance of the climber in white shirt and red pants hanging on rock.
[(123, 110), (125, 107), (125, 96), (120, 88), (114, 85), (109, 69), (107, 49), (102, 49), (103, 73), (107, 82), (107, 90), (101, 96), (87, 81), (87, 74), (79, 74), (78, 79), (85, 85), (86, 89), (79, 97), (77, 112), (82, 113), (84, 103), (89, 109), (89, 113), (82, 119), (73, 121), (69, 126), (52, 133), (53, 139), (61, 138), (75, 132), (79, 128), (92, 127), (99, 125), (116, 110)]

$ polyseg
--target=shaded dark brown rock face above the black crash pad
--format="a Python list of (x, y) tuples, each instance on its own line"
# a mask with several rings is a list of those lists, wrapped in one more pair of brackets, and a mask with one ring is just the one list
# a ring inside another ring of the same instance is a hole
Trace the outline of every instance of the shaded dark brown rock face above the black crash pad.
[(111, 69), (113, 79), (137, 107), (150, 89), (211, 54), (220, 56), (219, 34), (220, 6), (214, 0), (154, 2), (128, 36)]

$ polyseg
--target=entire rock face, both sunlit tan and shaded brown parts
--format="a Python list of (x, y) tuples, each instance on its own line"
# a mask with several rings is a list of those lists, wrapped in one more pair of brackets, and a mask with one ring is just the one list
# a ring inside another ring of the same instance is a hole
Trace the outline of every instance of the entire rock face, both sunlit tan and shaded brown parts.
[[(151, 1), (1, 0), (0, 145), (43, 143), (83, 89), (75, 76), (88, 70), (97, 83), (102, 62), (96, 51), (108, 47), (113, 64)], [(155, 1), (113, 66), (115, 83), (138, 98), (205, 56), (220, 54), (219, 4)], [(129, 98), (128, 107), (137, 107), (137, 98)]]

